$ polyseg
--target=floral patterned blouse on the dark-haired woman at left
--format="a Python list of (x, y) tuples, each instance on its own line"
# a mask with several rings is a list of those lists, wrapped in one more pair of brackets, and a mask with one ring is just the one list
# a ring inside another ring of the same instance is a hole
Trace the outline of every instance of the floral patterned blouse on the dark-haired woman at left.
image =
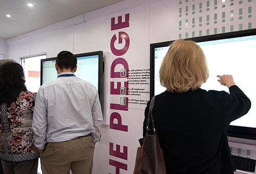
[(0, 107), (0, 159), (23, 162), (39, 158), (33, 143), (32, 117), (36, 93), (22, 91)]

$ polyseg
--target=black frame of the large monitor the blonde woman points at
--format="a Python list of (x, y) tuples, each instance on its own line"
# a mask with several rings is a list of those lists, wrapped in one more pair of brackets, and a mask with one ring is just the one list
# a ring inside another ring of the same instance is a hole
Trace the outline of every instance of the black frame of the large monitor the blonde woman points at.
[[(236, 32), (229, 32), (229, 33), (222, 33), (222, 34), (215, 34), (215, 35), (207, 35), (207, 36), (200, 36), (200, 37), (193, 37), (193, 38), (186, 38), (194, 42), (205, 42), (205, 41), (214, 41), (218, 39), (225, 39), (225, 38), (234, 38), (234, 37), (242, 37), (242, 36), (250, 36), (256, 35), (256, 29), (250, 30), (242, 30)], [(155, 74), (155, 48), (159, 47), (166, 47), (172, 44), (174, 41), (167, 41), (167, 42), (160, 42), (160, 43), (153, 43), (150, 44), (150, 98), (152, 98), (155, 94), (154, 88), (154, 74)], [(251, 139), (256, 140), (256, 128), (251, 127), (242, 127), (242, 126), (233, 126), (230, 125), (227, 128), (227, 135), (229, 137), (236, 137), (236, 138), (243, 138), (243, 139)]]

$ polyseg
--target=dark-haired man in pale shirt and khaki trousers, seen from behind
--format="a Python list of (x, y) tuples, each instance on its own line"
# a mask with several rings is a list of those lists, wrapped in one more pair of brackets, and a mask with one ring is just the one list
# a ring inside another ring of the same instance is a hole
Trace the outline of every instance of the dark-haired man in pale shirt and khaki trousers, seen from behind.
[(103, 123), (98, 92), (75, 76), (77, 58), (71, 52), (58, 53), (55, 69), (58, 77), (39, 88), (33, 115), (42, 171), (91, 173), (94, 144), (100, 141)]

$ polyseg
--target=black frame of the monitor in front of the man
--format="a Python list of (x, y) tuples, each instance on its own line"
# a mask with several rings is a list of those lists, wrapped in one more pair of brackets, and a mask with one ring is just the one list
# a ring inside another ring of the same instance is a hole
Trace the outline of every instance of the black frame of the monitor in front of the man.
[[(99, 62), (98, 62), (98, 93), (99, 93), (99, 98), (101, 102), (101, 106), (103, 107), (103, 101), (104, 101), (104, 57), (103, 57), (103, 51), (93, 51), (93, 52), (84, 52), (84, 53), (78, 53), (75, 56), (77, 58), (80, 57), (87, 57), (87, 56), (98, 56), (99, 57)], [(46, 61), (53, 61), (56, 60), (56, 57), (53, 58), (46, 58), (46, 59), (41, 59), (41, 73), (40, 73), (40, 83), (41, 85), (43, 84), (43, 62)]]

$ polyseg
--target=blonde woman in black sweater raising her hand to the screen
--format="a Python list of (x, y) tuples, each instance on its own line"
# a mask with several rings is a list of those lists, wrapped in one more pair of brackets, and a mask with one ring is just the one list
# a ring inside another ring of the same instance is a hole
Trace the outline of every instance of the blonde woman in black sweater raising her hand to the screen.
[[(184, 39), (170, 45), (160, 69), (160, 82), (166, 91), (155, 97), (153, 108), (167, 173), (229, 174), (235, 171), (226, 128), (250, 110), (251, 102), (231, 75), (217, 75), (218, 82), (228, 87), (229, 93), (201, 89), (208, 77), (200, 46)], [(149, 104), (145, 109), (143, 136)]]

